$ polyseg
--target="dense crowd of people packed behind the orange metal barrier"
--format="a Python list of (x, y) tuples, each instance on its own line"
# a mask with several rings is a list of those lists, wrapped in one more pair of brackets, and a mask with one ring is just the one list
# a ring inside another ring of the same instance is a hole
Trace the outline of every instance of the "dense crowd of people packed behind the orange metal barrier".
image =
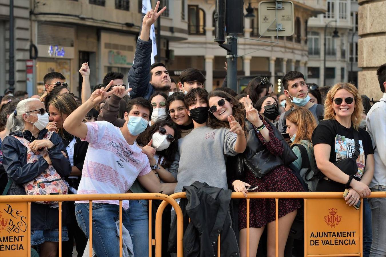
[[(319, 88), (298, 71), (284, 75), (284, 94), (275, 94), (266, 77), (255, 77), (240, 94), (228, 87), (207, 92), (199, 70), (186, 69), (176, 82), (163, 63), (151, 64), (150, 27), (166, 9), (158, 6), (143, 19), (129, 86), (123, 74), (108, 72), (91, 90), (86, 62), (79, 70), (81, 98), (58, 72), (44, 76), (41, 97), (5, 92), (3, 195), (190, 194), (196, 181), (202, 183), (197, 190), (234, 190), (245, 197), (248, 192), (349, 189), (344, 198), (349, 206), (363, 198), (364, 256), (386, 256), (386, 198), (366, 199), (371, 191), (386, 190), (386, 64), (377, 71), (383, 97), (372, 106), (353, 84)], [(219, 208), (214, 198), (205, 199), (207, 215), (220, 212), (209, 210)], [(246, 200), (232, 200), (230, 206), (233, 228), (226, 233), (232, 236), (222, 232), (222, 239), (236, 240), (227, 242), (228, 252), (236, 245), (230, 255), (246, 256), (249, 240), (251, 256), (275, 256), (275, 200), (251, 199), (249, 239)], [(57, 202), (31, 203), (32, 256), (56, 256), (59, 229), (62, 256), (73, 255), (74, 243), (82, 256), (90, 238), (89, 202), (64, 202), (61, 228), (56, 207)], [(122, 208), (129, 233), (124, 256), (149, 256), (149, 202), (123, 200)], [(93, 201), (92, 246), (98, 257), (119, 256), (119, 213), (118, 200)], [(164, 212), (163, 237), (172, 234), (168, 223), (175, 216), (171, 208)], [(279, 200), (279, 256), (304, 255), (304, 243), (296, 244), (293, 232), (302, 229), (295, 226), (302, 217), (301, 200)], [(218, 235), (208, 228), (204, 233)], [(167, 241), (162, 256), (169, 255)], [(215, 242), (207, 248), (205, 253), (217, 252)]]

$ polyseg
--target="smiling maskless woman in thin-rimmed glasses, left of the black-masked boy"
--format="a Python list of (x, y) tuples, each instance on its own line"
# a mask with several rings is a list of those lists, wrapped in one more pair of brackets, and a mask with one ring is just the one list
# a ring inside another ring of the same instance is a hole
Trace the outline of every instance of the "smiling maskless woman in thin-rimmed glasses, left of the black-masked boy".
[(193, 121), (188, 115), (184, 99), (185, 95), (182, 92), (175, 92), (168, 98), (168, 114), (171, 120), (177, 124), (177, 128), (181, 132), (181, 138), (193, 129)]

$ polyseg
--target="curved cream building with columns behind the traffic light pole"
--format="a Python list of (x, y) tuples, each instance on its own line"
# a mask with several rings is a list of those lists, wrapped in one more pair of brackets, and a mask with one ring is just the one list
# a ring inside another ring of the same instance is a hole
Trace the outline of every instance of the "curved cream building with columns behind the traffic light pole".
[[(178, 1), (176, 1), (178, 2)], [(258, 29), (259, 0), (251, 0), (255, 17), (244, 18), (244, 34), (239, 37), (239, 56), (237, 60), (237, 75), (266, 76), (279, 88), (278, 79), (290, 70), (298, 70), (307, 74), (308, 48), (307, 48), (307, 23), (308, 18), (325, 12), (325, 0), (293, 1), (295, 34), (291, 37), (260, 37)], [(244, 7), (248, 5), (245, 1)], [(274, 2), (273, 2), (274, 3)], [(185, 20), (188, 22), (189, 39), (172, 42), (170, 48), (174, 50), (174, 60), (167, 63), (172, 77), (178, 79), (179, 74), (186, 68), (200, 69), (207, 81), (205, 87), (208, 91), (221, 86), (226, 71), (226, 51), (214, 42), (215, 0), (189, 0), (188, 12)], [(244, 8), (244, 12), (246, 13)], [(260, 37), (260, 38), (259, 38)], [(278, 42), (256, 41), (257, 39)], [(263, 49), (266, 47), (265, 49)], [(239, 91), (247, 84), (249, 79), (240, 81)]]

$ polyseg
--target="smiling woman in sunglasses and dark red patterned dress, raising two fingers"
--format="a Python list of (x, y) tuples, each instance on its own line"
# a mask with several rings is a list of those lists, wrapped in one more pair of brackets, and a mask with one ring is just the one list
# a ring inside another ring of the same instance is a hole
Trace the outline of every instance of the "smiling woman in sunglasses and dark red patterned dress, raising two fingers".
[[(224, 101), (221, 101), (224, 100)], [(296, 192), (303, 191), (300, 182), (291, 170), (284, 166), (282, 162), (272, 160), (261, 160), (254, 158), (255, 154), (260, 151), (269, 151), (271, 155), (278, 156), (283, 152), (282, 143), (274, 135), (274, 127), (267, 122), (266, 119), (253, 108), (249, 96), (244, 99), (244, 109), (241, 104), (229, 94), (211, 92), (209, 94), (210, 115), (208, 124), (213, 126), (226, 126), (224, 122), (225, 115), (233, 115), (239, 120), (240, 125), (248, 133), (247, 149), (243, 156), (248, 163), (254, 167), (259, 167), (259, 164), (267, 164), (274, 167), (269, 173), (257, 178), (251, 170), (244, 167), (245, 174), (234, 174), (232, 178), (228, 178), (236, 192), (242, 192), (246, 196), (246, 186), (257, 185), (253, 190), (255, 192)], [(246, 118), (246, 119), (245, 119)], [(245, 120), (244, 120), (245, 119)], [(261, 162), (261, 163), (259, 163)], [(259, 168), (257, 168), (259, 170)], [(239, 173), (239, 172), (238, 172)], [(236, 179), (237, 178), (237, 179)], [(243, 182), (246, 181), (247, 183)], [(295, 219), (297, 209), (300, 208), (298, 199), (280, 199), (279, 200), (279, 256), (284, 254), (284, 246), (287, 241), (289, 229)], [(256, 254), (257, 246), (265, 226), (268, 227), (267, 235), (267, 256), (275, 255), (275, 200), (274, 199), (252, 199), (250, 202), (250, 253)], [(239, 206), (239, 230), (240, 230), (240, 255), (246, 256), (246, 240), (247, 240), (247, 223), (246, 223), (246, 201), (242, 200)], [(253, 214), (252, 214), (253, 213)], [(252, 256), (252, 255), (251, 255)]]

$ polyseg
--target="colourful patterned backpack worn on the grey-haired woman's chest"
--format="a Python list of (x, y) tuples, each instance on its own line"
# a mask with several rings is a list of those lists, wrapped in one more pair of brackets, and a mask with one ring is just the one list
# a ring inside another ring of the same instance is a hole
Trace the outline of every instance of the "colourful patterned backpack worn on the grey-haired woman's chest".
[[(47, 132), (43, 139), (49, 140), (52, 131)], [(48, 155), (47, 148), (41, 151), (41, 154), (36, 155), (29, 147), (29, 141), (24, 138), (14, 136), (27, 148), (27, 163), (35, 163), (39, 160), (39, 156)], [(27, 195), (67, 195), (68, 187), (64, 179), (58, 174), (52, 165), (38, 175), (34, 180), (24, 184), (25, 193)], [(36, 202), (41, 204), (54, 204), (55, 201)]]

